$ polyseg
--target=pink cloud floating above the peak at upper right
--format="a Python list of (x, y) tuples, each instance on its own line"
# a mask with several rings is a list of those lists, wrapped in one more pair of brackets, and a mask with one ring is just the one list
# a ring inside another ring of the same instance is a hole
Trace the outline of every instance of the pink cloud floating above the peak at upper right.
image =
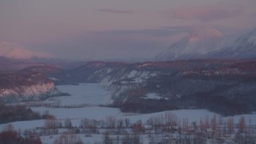
[(168, 11), (172, 18), (191, 20), (197, 19), (202, 22), (212, 22), (226, 18), (236, 18), (243, 14), (244, 6), (225, 5), (219, 3), (215, 6), (179, 7)]

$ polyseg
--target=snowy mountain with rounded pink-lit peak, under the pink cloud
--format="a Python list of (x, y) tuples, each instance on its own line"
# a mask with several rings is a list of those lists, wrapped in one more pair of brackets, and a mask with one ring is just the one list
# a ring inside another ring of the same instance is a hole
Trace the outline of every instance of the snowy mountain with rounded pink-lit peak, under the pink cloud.
[(160, 61), (174, 59), (200, 58), (201, 55), (220, 50), (225, 45), (225, 38), (216, 29), (202, 27), (192, 30), (178, 42), (170, 46), (156, 59)]

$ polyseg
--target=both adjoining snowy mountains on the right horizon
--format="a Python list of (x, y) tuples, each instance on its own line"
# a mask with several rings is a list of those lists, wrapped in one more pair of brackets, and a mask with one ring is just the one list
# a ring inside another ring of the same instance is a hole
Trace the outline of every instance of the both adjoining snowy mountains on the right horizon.
[(227, 42), (218, 30), (198, 29), (158, 54), (155, 60), (194, 58), (256, 58), (256, 29), (232, 43)]

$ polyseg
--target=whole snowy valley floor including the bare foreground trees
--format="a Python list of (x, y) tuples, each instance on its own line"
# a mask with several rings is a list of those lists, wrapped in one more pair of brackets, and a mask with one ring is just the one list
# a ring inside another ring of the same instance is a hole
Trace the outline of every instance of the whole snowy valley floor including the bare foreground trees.
[[(256, 114), (223, 117), (209, 110), (167, 110), (151, 114), (123, 113), (118, 108), (106, 107), (106, 104), (111, 102), (110, 94), (96, 83), (57, 87), (59, 90), (65, 90), (64, 92), (69, 93), (70, 96), (49, 98), (42, 101), (41, 105), (38, 102), (30, 103), (31, 110), (53, 117), (45, 120), (10, 122), (0, 125), (0, 130), (6, 130), (11, 125), (24, 137), (38, 137), (42, 143), (124, 142), (127, 141), (127, 137), (130, 139), (128, 142), (142, 143), (170, 141), (234, 143), (252, 140), (250, 138), (255, 136)], [(106, 101), (98, 102), (99, 99)], [(42, 105), (43, 103), (46, 105)], [(239, 126), (242, 118), (244, 118), (242, 123), (245, 125), (244, 128)], [(229, 122), (233, 122), (231, 125), (234, 126), (230, 127)], [(247, 126), (250, 126), (250, 131), (247, 131), (249, 130)], [(250, 137), (239, 139), (237, 134), (241, 129), (245, 134), (250, 134)], [(197, 138), (198, 136), (200, 138)]]

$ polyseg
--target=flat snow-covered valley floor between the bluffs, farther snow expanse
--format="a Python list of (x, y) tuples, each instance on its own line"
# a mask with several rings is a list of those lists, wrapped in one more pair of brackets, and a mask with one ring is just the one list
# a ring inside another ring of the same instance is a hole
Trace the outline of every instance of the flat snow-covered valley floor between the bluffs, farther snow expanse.
[(113, 102), (108, 91), (100, 87), (98, 83), (81, 83), (78, 86), (62, 85), (57, 86), (57, 89), (70, 96), (54, 97), (48, 100), (60, 102), (62, 106), (106, 105)]

